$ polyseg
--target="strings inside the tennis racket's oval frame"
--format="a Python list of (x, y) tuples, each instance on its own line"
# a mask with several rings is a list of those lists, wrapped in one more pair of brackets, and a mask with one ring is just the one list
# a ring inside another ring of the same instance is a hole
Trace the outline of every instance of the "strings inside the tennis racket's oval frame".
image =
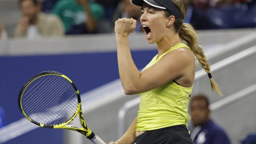
[(68, 121), (77, 110), (73, 85), (58, 75), (46, 75), (32, 81), (24, 91), (24, 112), (34, 121), (58, 125)]

